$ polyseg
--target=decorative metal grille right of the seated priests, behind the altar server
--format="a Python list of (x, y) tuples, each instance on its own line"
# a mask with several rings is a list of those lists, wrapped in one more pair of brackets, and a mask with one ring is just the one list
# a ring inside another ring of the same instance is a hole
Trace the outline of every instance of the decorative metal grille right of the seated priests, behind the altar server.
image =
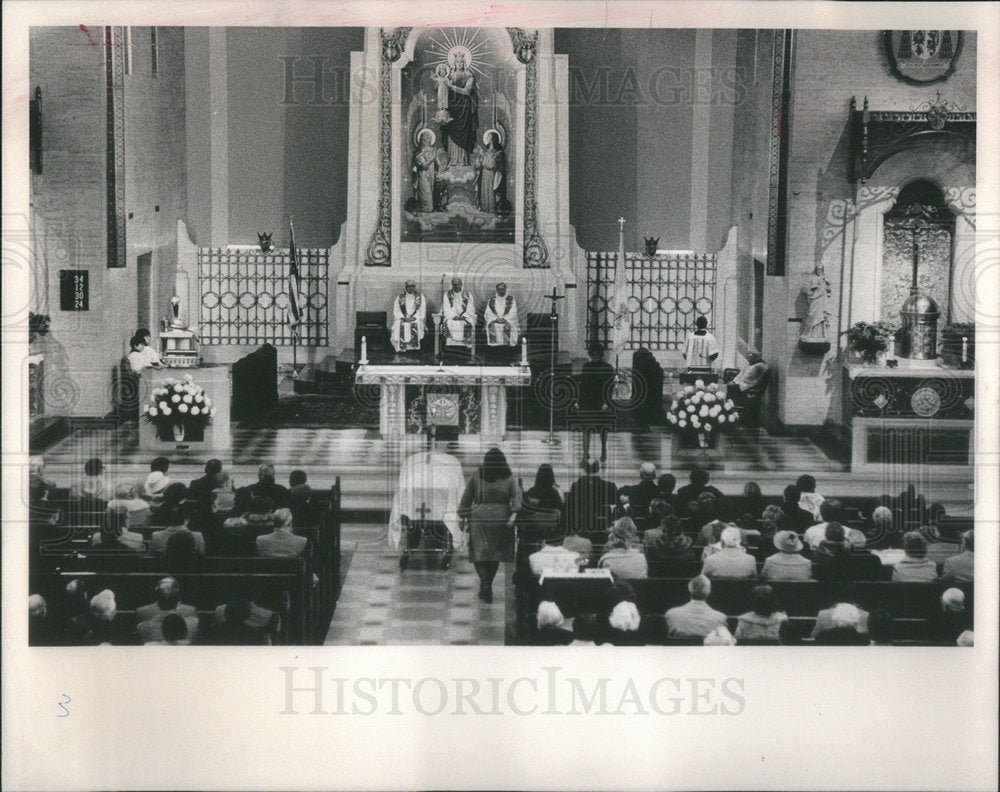
[[(587, 251), (587, 338), (607, 345), (611, 333), (608, 298), (617, 253)], [(713, 327), (715, 254), (688, 253), (649, 258), (625, 254), (628, 307), (632, 312), (629, 349), (680, 351), (697, 316)]]

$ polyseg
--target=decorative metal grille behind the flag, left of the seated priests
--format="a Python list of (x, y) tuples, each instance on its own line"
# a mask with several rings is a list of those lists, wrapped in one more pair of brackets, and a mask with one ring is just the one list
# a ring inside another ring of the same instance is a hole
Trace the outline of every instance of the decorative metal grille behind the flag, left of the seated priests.
[(296, 248), (299, 335), (288, 322), (288, 250), (199, 248), (202, 344), (326, 346), (329, 251)]

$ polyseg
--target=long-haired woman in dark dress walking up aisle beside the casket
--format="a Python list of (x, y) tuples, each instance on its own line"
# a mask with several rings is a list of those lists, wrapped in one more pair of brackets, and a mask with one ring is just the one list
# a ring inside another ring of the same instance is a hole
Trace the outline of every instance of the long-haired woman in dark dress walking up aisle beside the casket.
[(491, 448), (466, 484), (458, 508), (468, 523), (469, 558), (484, 602), (493, 602), (493, 578), (500, 563), (514, 560), (514, 518), (520, 508), (521, 491), (507, 458), (499, 448)]

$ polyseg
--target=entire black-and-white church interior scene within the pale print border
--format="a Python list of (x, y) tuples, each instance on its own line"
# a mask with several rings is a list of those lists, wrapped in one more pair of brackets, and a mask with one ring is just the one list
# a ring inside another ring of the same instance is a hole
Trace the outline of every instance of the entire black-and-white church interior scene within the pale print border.
[(975, 32), (29, 43), (32, 644), (971, 644)]

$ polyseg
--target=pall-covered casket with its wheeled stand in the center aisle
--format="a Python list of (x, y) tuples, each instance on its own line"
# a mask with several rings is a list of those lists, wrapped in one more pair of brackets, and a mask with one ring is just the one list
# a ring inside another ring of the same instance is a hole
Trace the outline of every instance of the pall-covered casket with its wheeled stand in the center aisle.
[(432, 536), (428, 544), (444, 550), (445, 565), (453, 549), (461, 550), (458, 504), (464, 489), (462, 465), (450, 454), (421, 451), (403, 461), (389, 515), (389, 546), (397, 550), (402, 546), (401, 569), (420, 544), (421, 527), (444, 526), (444, 535)]

